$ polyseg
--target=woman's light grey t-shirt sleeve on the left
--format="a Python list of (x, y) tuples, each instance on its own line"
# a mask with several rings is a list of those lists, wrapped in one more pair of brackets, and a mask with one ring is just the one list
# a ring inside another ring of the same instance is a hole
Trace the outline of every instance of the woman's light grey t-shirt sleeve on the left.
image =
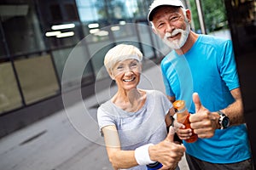
[(111, 116), (111, 114), (109, 114), (108, 111), (104, 111), (102, 106), (100, 106), (97, 110), (97, 121), (99, 125), (99, 130), (102, 136), (103, 136), (102, 127), (115, 125), (113, 116)]

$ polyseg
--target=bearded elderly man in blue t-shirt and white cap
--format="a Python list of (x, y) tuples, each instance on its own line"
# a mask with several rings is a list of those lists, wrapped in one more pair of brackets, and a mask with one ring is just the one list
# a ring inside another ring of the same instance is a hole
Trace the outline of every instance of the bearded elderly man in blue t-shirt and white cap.
[[(231, 41), (191, 31), (191, 13), (179, 0), (155, 0), (148, 21), (174, 49), (161, 62), (166, 94), (186, 101), (199, 137), (183, 141), (190, 170), (253, 169)], [(177, 134), (189, 139), (192, 129)]]

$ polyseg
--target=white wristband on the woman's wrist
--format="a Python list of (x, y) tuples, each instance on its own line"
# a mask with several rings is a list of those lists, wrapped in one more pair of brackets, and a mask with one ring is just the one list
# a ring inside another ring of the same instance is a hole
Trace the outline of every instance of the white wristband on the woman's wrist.
[(149, 163), (154, 163), (155, 161), (151, 161), (148, 147), (154, 144), (145, 144), (143, 146), (138, 147), (135, 150), (135, 159), (139, 165), (148, 165)]

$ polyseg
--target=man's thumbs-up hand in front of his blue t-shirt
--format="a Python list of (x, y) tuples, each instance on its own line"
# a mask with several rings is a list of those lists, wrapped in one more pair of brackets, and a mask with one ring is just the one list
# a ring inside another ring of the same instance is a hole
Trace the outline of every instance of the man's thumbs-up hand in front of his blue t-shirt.
[(200, 97), (197, 93), (193, 94), (195, 103), (195, 114), (189, 116), (190, 126), (199, 138), (212, 138), (215, 129), (218, 127), (218, 113), (210, 112), (201, 105)]

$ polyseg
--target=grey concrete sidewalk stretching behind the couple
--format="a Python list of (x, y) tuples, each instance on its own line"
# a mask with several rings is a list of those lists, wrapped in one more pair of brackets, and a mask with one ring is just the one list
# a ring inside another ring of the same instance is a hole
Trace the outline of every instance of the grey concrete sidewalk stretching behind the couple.
[[(140, 88), (164, 92), (160, 67), (143, 71)], [(52, 116), (0, 139), (1, 170), (110, 170), (96, 108), (116, 87), (102, 90)], [(74, 91), (79, 93), (79, 91)], [(186, 161), (179, 164), (187, 170)]]

